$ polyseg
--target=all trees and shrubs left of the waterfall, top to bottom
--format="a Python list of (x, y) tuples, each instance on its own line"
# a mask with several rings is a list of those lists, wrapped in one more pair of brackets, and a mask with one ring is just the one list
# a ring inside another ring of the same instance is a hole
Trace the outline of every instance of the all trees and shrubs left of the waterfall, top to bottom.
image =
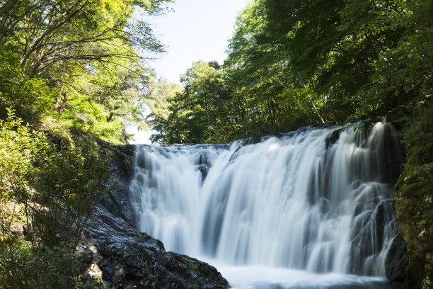
[(148, 23), (171, 0), (0, 0), (0, 288), (79, 287), (76, 252), (158, 83)]

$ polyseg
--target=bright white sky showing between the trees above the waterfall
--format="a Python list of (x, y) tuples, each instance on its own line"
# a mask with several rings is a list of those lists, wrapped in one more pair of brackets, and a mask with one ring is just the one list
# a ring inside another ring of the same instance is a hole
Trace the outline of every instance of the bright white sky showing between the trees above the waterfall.
[[(146, 18), (156, 37), (166, 45), (167, 52), (149, 61), (158, 78), (180, 84), (180, 74), (185, 74), (192, 62), (226, 58), (228, 40), (234, 32), (238, 13), (246, 8), (248, 0), (176, 0), (173, 11)], [(131, 127), (135, 134), (131, 143), (150, 144), (151, 132)]]

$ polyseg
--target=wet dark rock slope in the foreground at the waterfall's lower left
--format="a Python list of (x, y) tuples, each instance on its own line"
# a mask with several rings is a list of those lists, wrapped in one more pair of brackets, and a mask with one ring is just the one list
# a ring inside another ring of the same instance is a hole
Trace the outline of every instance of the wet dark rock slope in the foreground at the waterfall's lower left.
[(105, 288), (229, 288), (216, 268), (165, 251), (161, 241), (103, 208), (96, 208), (84, 234), (81, 251), (91, 259), (88, 276)]

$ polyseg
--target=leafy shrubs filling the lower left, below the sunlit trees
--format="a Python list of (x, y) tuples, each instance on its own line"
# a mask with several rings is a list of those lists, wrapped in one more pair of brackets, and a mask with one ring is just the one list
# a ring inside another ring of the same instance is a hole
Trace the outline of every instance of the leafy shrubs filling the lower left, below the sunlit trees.
[[(12, 110), (0, 120), (0, 285), (71, 288), (76, 246), (99, 196), (108, 191), (108, 156), (92, 137), (57, 147)], [(11, 230), (30, 228), (25, 239)]]

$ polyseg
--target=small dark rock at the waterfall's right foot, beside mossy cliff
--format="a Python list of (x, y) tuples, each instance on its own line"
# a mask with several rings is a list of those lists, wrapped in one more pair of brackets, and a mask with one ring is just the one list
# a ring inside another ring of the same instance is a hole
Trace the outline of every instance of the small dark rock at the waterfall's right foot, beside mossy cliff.
[(386, 256), (386, 278), (391, 284), (404, 284), (408, 268), (408, 248), (400, 233), (393, 239), (393, 244)]

